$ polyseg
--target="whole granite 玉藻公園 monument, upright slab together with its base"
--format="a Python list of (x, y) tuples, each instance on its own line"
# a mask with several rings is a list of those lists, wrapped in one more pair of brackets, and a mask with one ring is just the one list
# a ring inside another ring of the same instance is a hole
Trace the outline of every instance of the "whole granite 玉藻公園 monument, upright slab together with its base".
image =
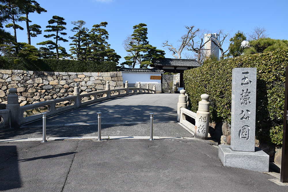
[(232, 69), (231, 145), (218, 156), (227, 167), (269, 171), (269, 155), (255, 147), (256, 68)]

